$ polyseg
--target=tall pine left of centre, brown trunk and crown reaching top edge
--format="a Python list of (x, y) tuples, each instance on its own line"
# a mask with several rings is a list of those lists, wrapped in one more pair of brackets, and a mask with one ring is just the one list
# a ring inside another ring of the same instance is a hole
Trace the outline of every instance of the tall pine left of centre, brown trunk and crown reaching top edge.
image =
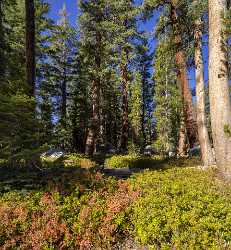
[(81, 49), (85, 52), (91, 81), (91, 120), (86, 140), (86, 154), (92, 155), (103, 143), (101, 111), (102, 70), (105, 55), (105, 21), (106, 2), (80, 1), (82, 15), (79, 19)]

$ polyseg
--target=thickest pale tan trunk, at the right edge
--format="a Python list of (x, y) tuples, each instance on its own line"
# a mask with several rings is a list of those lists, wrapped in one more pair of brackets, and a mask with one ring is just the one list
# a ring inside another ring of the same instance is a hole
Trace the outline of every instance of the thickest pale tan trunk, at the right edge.
[(231, 178), (231, 106), (228, 82), (227, 41), (222, 15), (226, 0), (209, 0), (209, 98), (211, 126), (217, 165)]

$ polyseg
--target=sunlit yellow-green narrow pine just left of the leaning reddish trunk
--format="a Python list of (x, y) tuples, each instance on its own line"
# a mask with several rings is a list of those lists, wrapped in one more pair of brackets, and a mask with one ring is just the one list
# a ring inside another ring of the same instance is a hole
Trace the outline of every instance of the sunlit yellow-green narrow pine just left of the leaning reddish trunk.
[(164, 155), (177, 153), (181, 121), (181, 97), (174, 72), (174, 53), (171, 40), (164, 39), (155, 55), (155, 118), (157, 149)]

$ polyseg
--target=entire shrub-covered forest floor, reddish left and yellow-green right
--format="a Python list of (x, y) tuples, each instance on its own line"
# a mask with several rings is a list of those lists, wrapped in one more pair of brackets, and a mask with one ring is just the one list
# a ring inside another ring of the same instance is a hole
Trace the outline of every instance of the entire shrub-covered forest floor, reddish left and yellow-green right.
[(74, 159), (0, 167), (0, 249), (231, 249), (231, 186), (199, 159)]

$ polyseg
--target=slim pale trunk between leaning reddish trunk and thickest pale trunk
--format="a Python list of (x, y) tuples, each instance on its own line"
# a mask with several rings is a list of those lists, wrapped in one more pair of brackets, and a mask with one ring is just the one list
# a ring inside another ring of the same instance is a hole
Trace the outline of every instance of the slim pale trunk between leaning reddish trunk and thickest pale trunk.
[(202, 32), (201, 20), (195, 23), (195, 66), (196, 66), (196, 98), (197, 98), (197, 126), (198, 137), (201, 148), (201, 158), (205, 166), (215, 163), (211, 143), (209, 140), (208, 129), (206, 127), (205, 115), (205, 83), (204, 83), (204, 64), (202, 55)]

